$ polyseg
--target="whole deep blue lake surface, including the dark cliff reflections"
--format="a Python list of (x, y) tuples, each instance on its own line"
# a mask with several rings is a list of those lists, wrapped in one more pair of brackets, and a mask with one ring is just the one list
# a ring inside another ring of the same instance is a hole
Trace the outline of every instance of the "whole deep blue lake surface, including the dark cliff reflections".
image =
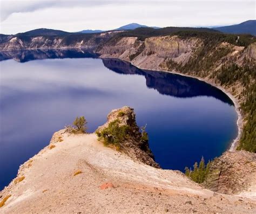
[(76, 116), (94, 132), (112, 109), (134, 108), (164, 169), (208, 161), (237, 136), (230, 98), (197, 79), (80, 51), (5, 52), (0, 60), (0, 190)]

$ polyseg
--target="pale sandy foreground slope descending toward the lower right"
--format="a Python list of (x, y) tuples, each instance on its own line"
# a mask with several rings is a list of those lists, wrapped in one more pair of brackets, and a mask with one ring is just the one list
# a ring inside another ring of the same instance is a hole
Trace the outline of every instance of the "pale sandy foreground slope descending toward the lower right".
[[(109, 119), (118, 119), (114, 113), (126, 109), (113, 111)], [(5, 201), (0, 212), (256, 211), (252, 197), (216, 194), (179, 171), (154, 168), (126, 154), (104, 147), (95, 134), (60, 130), (53, 134), (49, 147), (21, 165), (17, 178), (0, 192)]]

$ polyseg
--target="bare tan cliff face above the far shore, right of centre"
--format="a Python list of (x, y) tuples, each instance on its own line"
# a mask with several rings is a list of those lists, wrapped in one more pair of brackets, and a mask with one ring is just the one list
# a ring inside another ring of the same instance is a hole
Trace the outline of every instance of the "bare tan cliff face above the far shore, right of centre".
[(184, 65), (201, 45), (198, 38), (164, 36), (150, 37), (145, 42), (140, 42), (137, 37), (124, 37), (116, 44), (105, 44), (98, 52), (102, 58), (119, 58), (144, 69), (163, 70), (160, 65), (167, 59)]

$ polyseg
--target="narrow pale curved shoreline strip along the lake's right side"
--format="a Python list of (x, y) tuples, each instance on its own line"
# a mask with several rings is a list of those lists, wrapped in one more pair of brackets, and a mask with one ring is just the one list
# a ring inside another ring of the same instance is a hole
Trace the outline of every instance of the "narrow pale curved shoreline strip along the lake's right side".
[(183, 73), (179, 73), (179, 72), (173, 72), (173, 71), (164, 71), (164, 70), (157, 70), (157, 69), (145, 69), (143, 67), (134, 65), (131, 61), (128, 60), (124, 60), (124, 59), (120, 59), (119, 57), (101, 57), (99, 56), (100, 59), (119, 59), (122, 61), (126, 61), (127, 63), (130, 63), (131, 65), (141, 69), (141, 70), (145, 70), (145, 71), (158, 71), (158, 72), (166, 72), (166, 73), (172, 73), (172, 74), (178, 74), (184, 77), (190, 77), (190, 78), (194, 78), (194, 79), (198, 79), (200, 81), (204, 81), (207, 84), (210, 84), (213, 87), (216, 87), (218, 89), (220, 89), (223, 93), (225, 93), (228, 98), (230, 98), (232, 100), (232, 102), (234, 103), (234, 107), (235, 107), (235, 112), (237, 112), (237, 128), (238, 128), (238, 134), (237, 137), (235, 137), (235, 139), (232, 140), (232, 142), (230, 143), (230, 146), (228, 146), (228, 149), (226, 151), (235, 151), (238, 147), (238, 142), (241, 138), (241, 134), (242, 134), (242, 127), (244, 126), (244, 117), (241, 114), (241, 111), (239, 110), (240, 104), (238, 103), (238, 100), (234, 98), (234, 96), (227, 91), (226, 88), (221, 87), (220, 85), (215, 84), (215, 82), (209, 80), (209, 79), (204, 79), (204, 78), (200, 78), (200, 77), (196, 77), (193, 75), (189, 75), (189, 74), (183, 74)]

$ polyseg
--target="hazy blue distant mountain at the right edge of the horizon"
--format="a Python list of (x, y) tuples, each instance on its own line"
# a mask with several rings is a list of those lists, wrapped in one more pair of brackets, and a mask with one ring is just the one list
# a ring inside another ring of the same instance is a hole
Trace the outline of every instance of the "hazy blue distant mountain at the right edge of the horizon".
[(213, 27), (212, 29), (218, 30), (223, 33), (250, 33), (256, 36), (256, 20), (247, 20), (240, 24), (223, 26), (223, 27)]

